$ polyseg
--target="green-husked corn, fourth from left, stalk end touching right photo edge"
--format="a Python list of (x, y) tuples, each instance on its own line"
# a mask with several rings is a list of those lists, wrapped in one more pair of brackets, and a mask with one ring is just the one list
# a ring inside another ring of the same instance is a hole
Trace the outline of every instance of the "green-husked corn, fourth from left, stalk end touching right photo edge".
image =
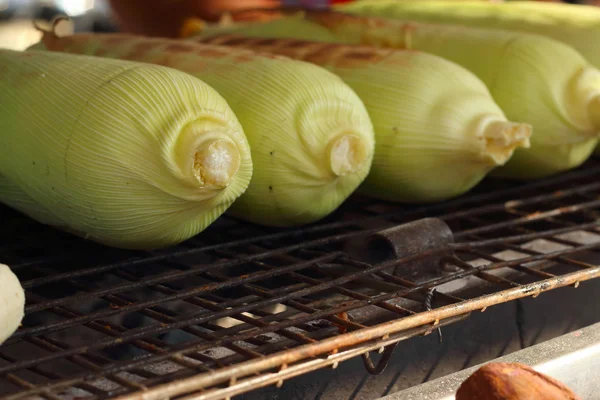
[[(450, 25), (402, 23), (334, 12), (306, 12), (256, 23), (250, 33), (271, 37), (288, 19), (305, 19), (298, 38), (326, 27), (339, 43), (425, 51), (453, 61), (477, 75), (507, 118), (533, 126), (531, 147), (517, 149), (509, 162), (492, 172), (534, 179), (575, 168), (598, 143), (600, 71), (572, 47), (539, 36)], [(299, 24), (297, 23), (299, 26)], [(246, 24), (237, 34), (246, 36)], [(233, 26), (226, 29), (233, 31)], [(200, 37), (220, 34), (208, 27)], [(326, 37), (322, 41), (330, 41)]]

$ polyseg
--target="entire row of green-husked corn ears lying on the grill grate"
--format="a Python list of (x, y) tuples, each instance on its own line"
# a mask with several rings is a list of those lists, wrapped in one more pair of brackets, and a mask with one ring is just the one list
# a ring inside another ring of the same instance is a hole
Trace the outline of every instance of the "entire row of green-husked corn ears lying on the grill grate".
[(543, 178), (598, 144), (600, 9), (365, 0), (261, 15), (189, 20), (181, 39), (56, 25), (0, 51), (0, 202), (152, 249), (225, 211), (296, 226), (355, 191), (430, 203), (487, 175)]

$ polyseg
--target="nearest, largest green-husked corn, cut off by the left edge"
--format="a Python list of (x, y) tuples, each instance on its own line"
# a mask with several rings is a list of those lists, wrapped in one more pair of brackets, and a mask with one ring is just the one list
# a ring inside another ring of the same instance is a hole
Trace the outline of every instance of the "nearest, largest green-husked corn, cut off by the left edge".
[(184, 241), (250, 182), (226, 101), (170, 68), (0, 50), (0, 104), (0, 202), (105, 245)]

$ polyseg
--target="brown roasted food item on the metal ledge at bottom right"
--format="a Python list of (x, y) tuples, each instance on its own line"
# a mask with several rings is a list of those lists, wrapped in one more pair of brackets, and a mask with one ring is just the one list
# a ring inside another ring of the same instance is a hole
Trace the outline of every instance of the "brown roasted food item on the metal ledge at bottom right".
[(556, 379), (519, 363), (490, 363), (458, 388), (456, 400), (581, 400)]

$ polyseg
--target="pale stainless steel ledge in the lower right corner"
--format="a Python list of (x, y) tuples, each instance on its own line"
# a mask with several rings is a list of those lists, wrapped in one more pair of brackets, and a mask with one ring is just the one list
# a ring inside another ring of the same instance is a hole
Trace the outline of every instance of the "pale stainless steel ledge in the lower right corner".
[[(489, 362), (518, 362), (569, 386), (583, 400), (600, 399), (600, 323)], [(487, 363), (486, 363), (487, 364)], [(484, 364), (379, 400), (454, 400), (456, 390)]]

